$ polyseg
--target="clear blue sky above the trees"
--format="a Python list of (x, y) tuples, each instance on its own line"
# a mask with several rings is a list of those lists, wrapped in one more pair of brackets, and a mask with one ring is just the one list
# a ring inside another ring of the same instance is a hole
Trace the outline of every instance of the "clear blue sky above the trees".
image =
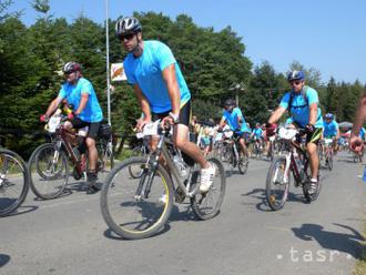
[[(50, 13), (70, 22), (83, 14), (105, 19), (106, 0), (50, 0)], [(31, 26), (39, 14), (31, 0), (14, 0)], [(321, 71), (322, 80), (366, 83), (366, 0), (109, 0), (109, 16), (162, 12), (172, 20), (190, 16), (200, 27), (220, 31), (231, 26), (245, 44), (254, 65), (268, 61), (286, 72), (293, 61)]]

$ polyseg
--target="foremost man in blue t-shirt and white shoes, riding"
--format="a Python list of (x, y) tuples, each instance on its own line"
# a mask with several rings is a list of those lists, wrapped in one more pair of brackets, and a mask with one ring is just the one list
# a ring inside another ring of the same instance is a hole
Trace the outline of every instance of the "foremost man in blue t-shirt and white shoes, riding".
[[(142, 26), (134, 17), (119, 19), (115, 34), (128, 51), (124, 71), (144, 113), (138, 130), (159, 119), (163, 125), (172, 124), (174, 144), (201, 165), (200, 191), (207, 192), (215, 167), (205, 160), (200, 147), (189, 141), (191, 93), (171, 49), (160, 41), (144, 41)], [(156, 140), (152, 141), (154, 144)]]

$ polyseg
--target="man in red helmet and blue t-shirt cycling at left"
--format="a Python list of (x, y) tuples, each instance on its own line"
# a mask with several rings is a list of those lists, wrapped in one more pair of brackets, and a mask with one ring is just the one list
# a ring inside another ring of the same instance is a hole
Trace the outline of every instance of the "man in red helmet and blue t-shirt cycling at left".
[[(99, 189), (95, 185), (98, 180), (98, 151), (95, 139), (103, 120), (103, 112), (99, 104), (92, 83), (84, 79), (81, 73), (81, 67), (77, 62), (68, 62), (63, 67), (65, 82), (62, 84), (59, 95), (50, 103), (45, 114), (40, 116), (42, 122), (47, 122), (50, 115), (65, 100), (69, 105), (73, 105), (73, 113), (69, 115), (71, 123), (65, 123), (67, 128), (82, 129), (88, 126), (87, 149), (89, 156), (89, 171), (87, 173), (88, 193), (94, 193)], [(85, 153), (83, 138), (79, 138), (79, 149)]]

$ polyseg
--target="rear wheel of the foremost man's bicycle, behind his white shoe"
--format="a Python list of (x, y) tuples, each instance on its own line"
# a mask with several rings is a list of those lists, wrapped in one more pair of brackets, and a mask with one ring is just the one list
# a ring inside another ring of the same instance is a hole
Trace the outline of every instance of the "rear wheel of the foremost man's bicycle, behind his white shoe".
[[(223, 203), (226, 191), (226, 176), (223, 164), (216, 157), (211, 157), (207, 161), (216, 167), (214, 182), (210, 187), (209, 192), (204, 194), (199, 193), (195, 196), (191, 197), (191, 206), (193, 213), (202, 221), (212, 218), (220, 213), (220, 208)], [(192, 176), (193, 189), (197, 186), (199, 177), (200, 172), (194, 172)], [(215, 190), (217, 190), (217, 192), (215, 192)], [(215, 200), (216, 193), (218, 194)], [(210, 206), (209, 203), (211, 198), (213, 203)]]

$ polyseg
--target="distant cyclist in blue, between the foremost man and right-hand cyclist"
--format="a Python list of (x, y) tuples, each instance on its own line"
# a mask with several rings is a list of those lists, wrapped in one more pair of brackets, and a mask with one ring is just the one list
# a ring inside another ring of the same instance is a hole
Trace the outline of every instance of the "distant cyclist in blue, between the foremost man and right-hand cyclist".
[(244, 155), (248, 156), (244, 138), (248, 129), (241, 109), (236, 106), (235, 100), (233, 99), (227, 99), (224, 103), (224, 112), (220, 121), (220, 129), (223, 129), (225, 125), (230, 126), (230, 130), (234, 132), (235, 136), (240, 136), (238, 143), (241, 150)]

